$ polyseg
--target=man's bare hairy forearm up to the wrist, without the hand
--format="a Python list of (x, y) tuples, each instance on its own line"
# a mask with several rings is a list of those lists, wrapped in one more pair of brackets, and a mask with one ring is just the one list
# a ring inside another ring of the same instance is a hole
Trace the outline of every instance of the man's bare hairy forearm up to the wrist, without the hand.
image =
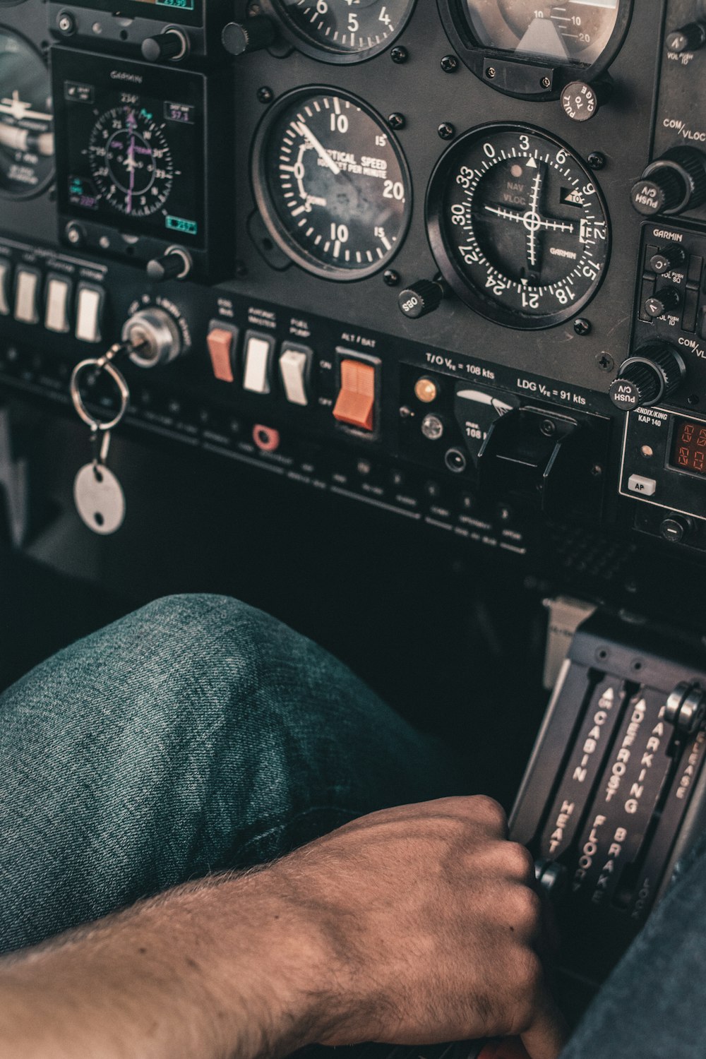
[(264, 883), (179, 887), (0, 961), (0, 1057), (255, 1059), (307, 1043), (319, 954)]

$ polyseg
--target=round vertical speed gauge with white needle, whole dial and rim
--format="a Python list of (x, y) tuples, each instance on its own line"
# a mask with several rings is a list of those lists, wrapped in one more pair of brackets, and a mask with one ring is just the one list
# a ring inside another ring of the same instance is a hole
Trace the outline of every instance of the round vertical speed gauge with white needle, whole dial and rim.
[(383, 120), (326, 88), (290, 92), (270, 110), (255, 138), (253, 190), (285, 253), (327, 280), (384, 268), (412, 213), (406, 161)]

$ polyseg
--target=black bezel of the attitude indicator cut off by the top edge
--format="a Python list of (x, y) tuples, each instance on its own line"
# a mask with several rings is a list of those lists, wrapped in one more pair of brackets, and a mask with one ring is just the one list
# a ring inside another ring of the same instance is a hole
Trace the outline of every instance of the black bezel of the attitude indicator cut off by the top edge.
[[(541, 55), (528, 55), (521, 58), (501, 48), (482, 44), (473, 36), (473, 31), (464, 11), (465, 0), (437, 0), (437, 4), (443, 29), (458, 53), (458, 57), (484, 85), (515, 100), (533, 100), (540, 103), (558, 100), (564, 87), (572, 80), (593, 82), (605, 73), (624, 43), (634, 8), (634, 0), (618, 0), (618, 17), (611, 38), (599, 58), (587, 67), (581, 66), (579, 62), (554, 62)], [(500, 62), (509, 62), (518, 67), (544, 67), (547, 70), (554, 70), (553, 86), (548, 90), (538, 87), (536, 92), (513, 91), (486, 76), (486, 60), (488, 58), (496, 58)]]

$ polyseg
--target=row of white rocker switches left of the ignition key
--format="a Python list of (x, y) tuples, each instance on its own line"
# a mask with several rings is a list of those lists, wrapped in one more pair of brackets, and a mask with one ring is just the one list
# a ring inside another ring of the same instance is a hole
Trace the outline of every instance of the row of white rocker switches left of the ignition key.
[(74, 284), (59, 273), (42, 273), (26, 265), (14, 276), (10, 262), (0, 258), (0, 316), (18, 323), (43, 324), (55, 335), (72, 330), (79, 342), (99, 342), (105, 291), (93, 284)]

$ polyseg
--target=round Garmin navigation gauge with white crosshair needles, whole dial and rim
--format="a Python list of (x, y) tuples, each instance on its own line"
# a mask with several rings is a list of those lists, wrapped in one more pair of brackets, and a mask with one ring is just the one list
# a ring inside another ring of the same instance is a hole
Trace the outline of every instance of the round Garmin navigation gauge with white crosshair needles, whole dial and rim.
[(594, 297), (610, 256), (593, 175), (559, 140), (488, 125), (439, 161), (427, 200), (430, 241), (456, 293), (506, 327), (553, 327)]

